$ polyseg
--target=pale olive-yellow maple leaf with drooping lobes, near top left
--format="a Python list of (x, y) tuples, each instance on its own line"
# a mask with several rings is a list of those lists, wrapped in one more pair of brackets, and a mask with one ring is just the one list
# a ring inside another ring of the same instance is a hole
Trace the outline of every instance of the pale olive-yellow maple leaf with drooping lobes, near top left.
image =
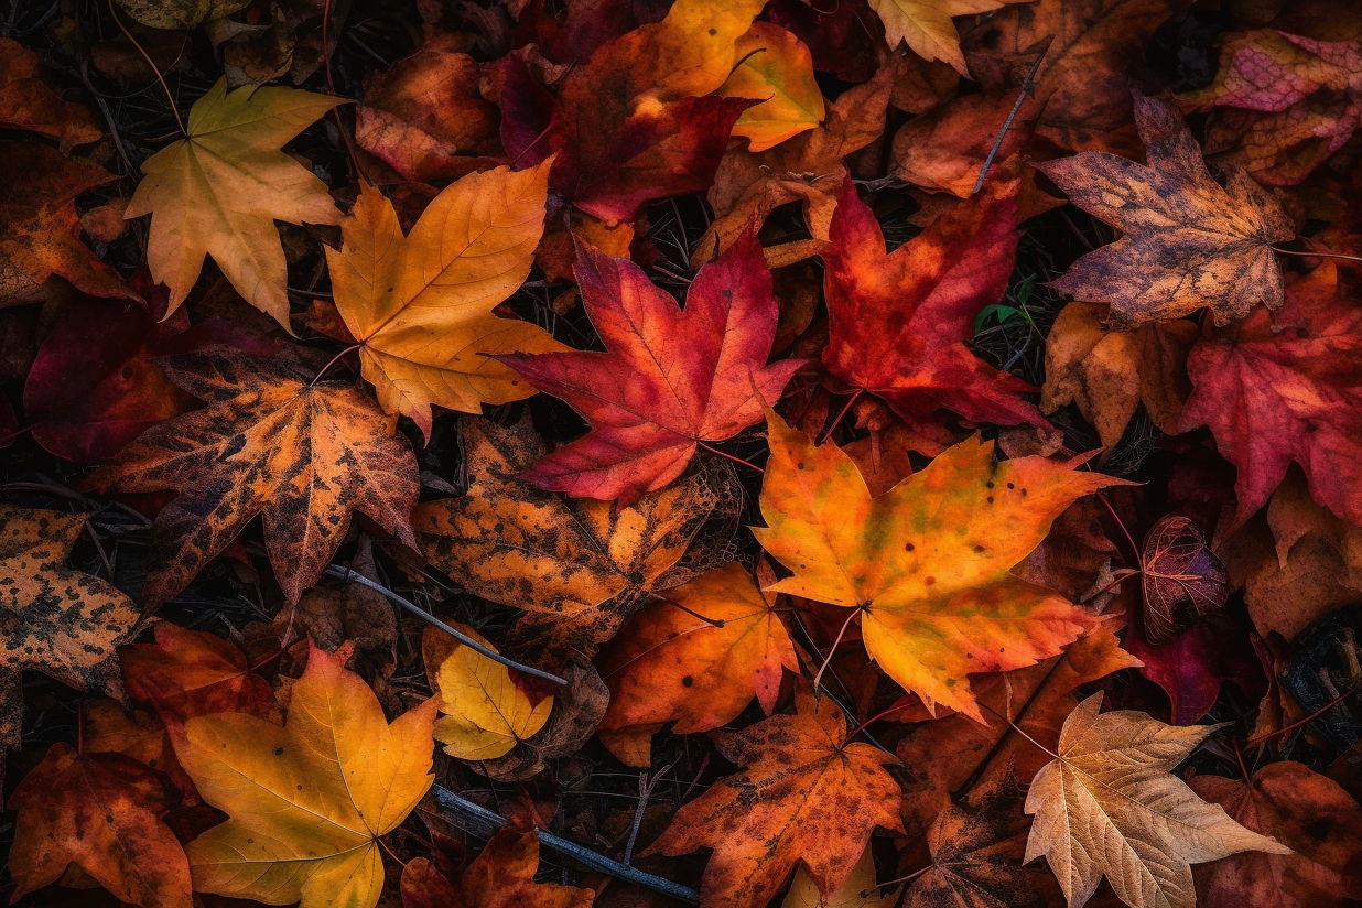
[(340, 211), (326, 184), (279, 146), (338, 103), (281, 87), (229, 94), (223, 78), (189, 109), (185, 137), (142, 165), (125, 216), (151, 215), (147, 265), (170, 289), (169, 312), (210, 255), (247, 302), (289, 327), (289, 274), (274, 222), (340, 223)]

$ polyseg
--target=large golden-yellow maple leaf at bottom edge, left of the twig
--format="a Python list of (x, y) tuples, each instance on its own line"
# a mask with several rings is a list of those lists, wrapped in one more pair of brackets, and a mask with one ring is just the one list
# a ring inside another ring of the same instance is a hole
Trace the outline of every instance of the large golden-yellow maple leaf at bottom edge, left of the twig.
[(176, 734), (199, 794), (229, 817), (187, 847), (197, 892), (300, 908), (379, 903), (377, 840), (430, 787), (436, 698), (388, 724), (345, 668), (349, 655), (309, 648), (283, 727), (229, 712)]

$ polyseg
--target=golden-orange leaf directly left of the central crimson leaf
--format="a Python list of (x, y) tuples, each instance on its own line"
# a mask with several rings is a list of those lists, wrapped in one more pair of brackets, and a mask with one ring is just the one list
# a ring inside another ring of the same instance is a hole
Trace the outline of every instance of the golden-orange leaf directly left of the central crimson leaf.
[(497, 167), (447, 187), (409, 237), (364, 185), (327, 263), (336, 309), (362, 344), (362, 374), (388, 412), (430, 434), (430, 406), (478, 412), (534, 393), (492, 354), (563, 350), (543, 328), (492, 310), (530, 274), (550, 162)]

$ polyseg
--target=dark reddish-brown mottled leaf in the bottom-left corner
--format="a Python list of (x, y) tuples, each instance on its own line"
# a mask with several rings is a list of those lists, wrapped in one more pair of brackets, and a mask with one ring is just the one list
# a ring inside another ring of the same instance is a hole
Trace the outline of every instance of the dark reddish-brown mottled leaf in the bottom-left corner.
[(14, 900), (78, 864), (120, 901), (189, 908), (189, 862), (161, 822), (180, 796), (161, 773), (118, 754), (57, 743), (15, 790)]

